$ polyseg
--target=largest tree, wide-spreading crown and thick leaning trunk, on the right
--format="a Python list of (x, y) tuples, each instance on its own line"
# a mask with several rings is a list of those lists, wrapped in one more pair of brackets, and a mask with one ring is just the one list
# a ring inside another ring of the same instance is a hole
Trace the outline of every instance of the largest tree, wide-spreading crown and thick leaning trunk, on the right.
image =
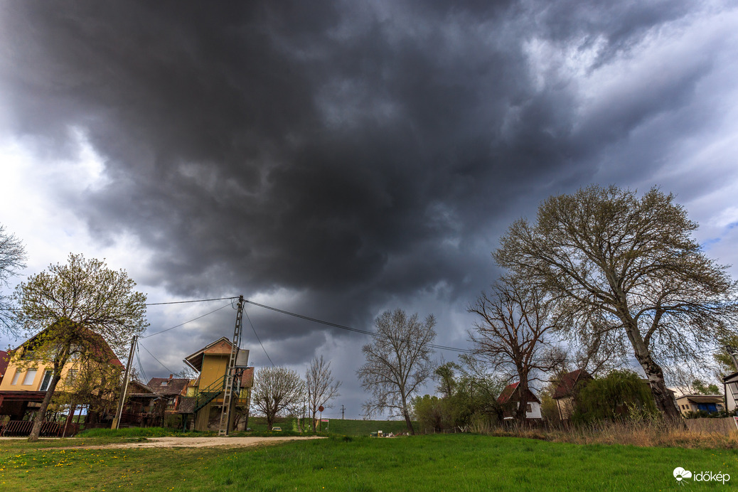
[(698, 358), (738, 318), (737, 285), (695, 229), (674, 195), (591, 186), (514, 222), (493, 256), (559, 301), (570, 335), (627, 339), (658, 409), (677, 419), (661, 364)]

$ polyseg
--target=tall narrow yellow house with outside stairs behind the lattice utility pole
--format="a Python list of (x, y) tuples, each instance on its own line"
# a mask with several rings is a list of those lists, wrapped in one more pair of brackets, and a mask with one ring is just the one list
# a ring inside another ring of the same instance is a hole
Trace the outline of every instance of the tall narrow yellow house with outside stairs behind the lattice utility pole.
[[(187, 413), (195, 415), (194, 428), (198, 431), (217, 430), (223, 411), (223, 395), (225, 374), (230, 359), (232, 343), (226, 337), (215, 340), (205, 347), (184, 358), (184, 363), (198, 373), (199, 378), (187, 388), (187, 396), (191, 397)], [(239, 426), (237, 417), (248, 419), (250, 390), (253, 383), (253, 367), (246, 367), (248, 350), (239, 351), (235, 393), (232, 398), (229, 429)], [(245, 420), (240, 426), (245, 426)]]

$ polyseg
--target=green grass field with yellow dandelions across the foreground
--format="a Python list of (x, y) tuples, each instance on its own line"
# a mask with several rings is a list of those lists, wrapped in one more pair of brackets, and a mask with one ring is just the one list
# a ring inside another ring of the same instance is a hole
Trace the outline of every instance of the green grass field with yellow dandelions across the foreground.
[[(677, 466), (731, 474), (738, 482), (734, 450), (475, 434), (331, 437), (236, 449), (44, 449), (0, 441), (2, 491), (658, 491), (679, 490), (672, 477)], [(689, 487), (721, 489), (730, 482), (690, 480)]]

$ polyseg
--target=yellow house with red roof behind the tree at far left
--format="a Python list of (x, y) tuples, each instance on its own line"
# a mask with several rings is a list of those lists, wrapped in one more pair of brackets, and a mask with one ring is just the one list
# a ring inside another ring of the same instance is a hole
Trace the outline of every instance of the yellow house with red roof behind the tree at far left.
[[(35, 337), (34, 337), (35, 338)], [(20, 347), (11, 350), (7, 369), (0, 381), (0, 419), (10, 417), (10, 420), (23, 420), (28, 412), (35, 412), (44, 400), (46, 390), (49, 389), (53, 376), (53, 364), (50, 361), (35, 360), (34, 351), (26, 347), (33, 339), (29, 339)], [(100, 337), (96, 350), (110, 354), (110, 364), (123, 369), (123, 364), (117, 359), (108, 344)], [(13, 360), (15, 353), (20, 354), (20, 361)], [(61, 370), (61, 380), (57, 384), (57, 392), (63, 392), (65, 384), (74, 381), (79, 373), (78, 358), (72, 358)]]

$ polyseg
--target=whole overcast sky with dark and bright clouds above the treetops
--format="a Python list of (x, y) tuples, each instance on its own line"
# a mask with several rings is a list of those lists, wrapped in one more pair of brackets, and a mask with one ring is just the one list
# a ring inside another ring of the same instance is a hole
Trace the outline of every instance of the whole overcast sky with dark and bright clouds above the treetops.
[[(593, 183), (675, 193), (738, 265), (731, 1), (1, 0), (0, 49), (24, 274), (83, 253), (149, 302), (244, 294), (364, 330), (399, 307), (466, 347), (500, 235)], [(149, 333), (225, 305), (151, 306)], [(328, 415), (360, 414), (365, 337), (246, 309), (275, 364), (332, 361)], [(142, 344), (176, 371), (234, 321)]]

